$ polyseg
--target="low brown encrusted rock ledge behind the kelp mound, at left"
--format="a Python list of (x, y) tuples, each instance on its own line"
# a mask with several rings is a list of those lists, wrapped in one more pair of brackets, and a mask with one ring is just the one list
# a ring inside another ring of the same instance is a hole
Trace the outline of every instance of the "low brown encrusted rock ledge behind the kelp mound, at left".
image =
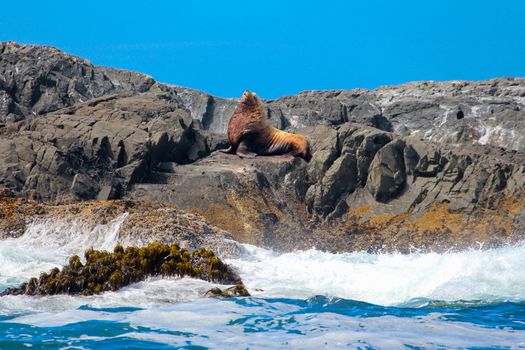
[[(103, 201), (57, 204), (0, 196), (0, 239), (22, 236), (33, 223), (60, 228), (76, 227), (76, 235), (111, 231), (118, 221), (116, 242), (124, 247), (142, 247), (154, 242), (177, 243), (193, 251), (211, 249), (220, 258), (236, 258), (241, 246), (233, 236), (210, 225), (202, 216), (160, 202)], [(57, 235), (63, 233), (57, 232)], [(53, 239), (53, 236), (50, 237)]]

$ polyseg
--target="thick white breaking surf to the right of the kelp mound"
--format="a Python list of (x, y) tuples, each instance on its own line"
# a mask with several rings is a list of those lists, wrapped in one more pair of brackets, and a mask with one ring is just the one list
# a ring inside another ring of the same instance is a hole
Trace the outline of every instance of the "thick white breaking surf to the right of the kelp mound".
[(249, 255), (227, 262), (239, 269), (249, 290), (264, 297), (327, 295), (381, 305), (414, 298), (525, 300), (523, 244), (409, 255), (246, 249)]

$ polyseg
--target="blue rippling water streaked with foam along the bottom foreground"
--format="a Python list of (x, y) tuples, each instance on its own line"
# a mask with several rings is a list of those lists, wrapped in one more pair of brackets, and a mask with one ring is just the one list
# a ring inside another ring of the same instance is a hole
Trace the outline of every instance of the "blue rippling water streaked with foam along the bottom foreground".
[(525, 347), (525, 304), (384, 307), (346, 299), (199, 299), (0, 317), (0, 348)]

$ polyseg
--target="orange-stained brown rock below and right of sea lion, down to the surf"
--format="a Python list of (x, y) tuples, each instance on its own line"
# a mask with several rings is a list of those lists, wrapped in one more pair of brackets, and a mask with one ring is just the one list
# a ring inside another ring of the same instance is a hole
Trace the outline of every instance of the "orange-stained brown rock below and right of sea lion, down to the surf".
[(318, 141), (310, 163), (213, 153), (129, 196), (174, 203), (236, 240), (282, 250), (440, 250), (523, 237), (525, 154), (352, 123), (301, 132)]

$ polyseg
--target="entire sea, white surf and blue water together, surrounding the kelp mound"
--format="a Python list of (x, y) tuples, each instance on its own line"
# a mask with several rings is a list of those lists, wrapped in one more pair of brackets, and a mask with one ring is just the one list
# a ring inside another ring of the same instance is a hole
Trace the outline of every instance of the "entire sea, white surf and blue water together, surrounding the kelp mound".
[[(0, 241), (0, 290), (71, 254), (112, 249), (123, 215), (88, 230), (33, 223)], [(244, 245), (249, 298), (155, 278), (98, 296), (0, 297), (0, 349), (525, 348), (525, 244), (450, 253), (278, 254)]]

